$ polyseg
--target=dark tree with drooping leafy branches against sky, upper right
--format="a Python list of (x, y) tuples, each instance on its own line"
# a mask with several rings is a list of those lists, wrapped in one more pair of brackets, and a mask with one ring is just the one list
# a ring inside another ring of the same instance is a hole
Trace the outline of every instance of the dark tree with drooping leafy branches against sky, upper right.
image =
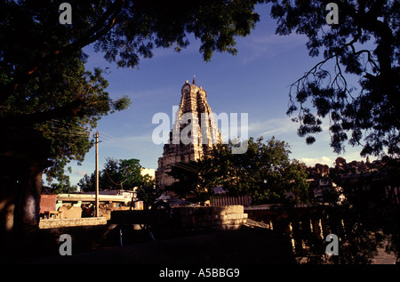
[[(321, 60), (295, 81), (290, 90), (289, 115), (300, 122), (298, 134), (308, 144), (329, 117), (331, 146), (360, 145), (361, 156), (400, 153), (399, 11), (398, 1), (340, 1), (339, 24), (328, 26), (330, 1), (269, 0), (277, 20), (276, 33), (308, 36), (311, 57)], [(329, 65), (333, 68), (329, 70)], [(358, 77), (359, 85), (348, 83)], [(312, 111), (316, 109), (316, 112)]]

